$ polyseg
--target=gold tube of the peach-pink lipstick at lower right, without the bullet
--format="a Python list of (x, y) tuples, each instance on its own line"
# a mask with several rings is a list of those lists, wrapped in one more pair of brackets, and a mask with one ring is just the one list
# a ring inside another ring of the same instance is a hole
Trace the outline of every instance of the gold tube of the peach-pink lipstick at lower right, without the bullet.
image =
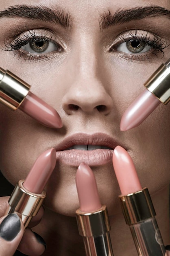
[(165, 256), (166, 250), (155, 219), (155, 209), (147, 188), (120, 195), (126, 224), (129, 225), (139, 256)]

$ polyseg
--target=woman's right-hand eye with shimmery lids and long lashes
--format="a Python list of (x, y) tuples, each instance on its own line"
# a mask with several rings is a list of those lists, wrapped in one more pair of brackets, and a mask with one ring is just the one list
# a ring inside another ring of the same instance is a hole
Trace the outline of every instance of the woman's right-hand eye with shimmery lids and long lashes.
[(118, 36), (110, 51), (117, 52), (123, 58), (131, 61), (147, 61), (151, 54), (162, 54), (163, 57), (163, 49), (166, 47), (166, 40), (147, 31), (136, 29), (126, 31)]

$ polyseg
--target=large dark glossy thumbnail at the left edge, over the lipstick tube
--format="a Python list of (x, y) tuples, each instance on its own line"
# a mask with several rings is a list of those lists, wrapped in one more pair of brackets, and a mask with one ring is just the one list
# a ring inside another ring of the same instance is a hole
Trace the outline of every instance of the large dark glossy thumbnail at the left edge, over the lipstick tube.
[(21, 222), (15, 213), (9, 214), (0, 224), (0, 237), (4, 240), (12, 241), (20, 232)]

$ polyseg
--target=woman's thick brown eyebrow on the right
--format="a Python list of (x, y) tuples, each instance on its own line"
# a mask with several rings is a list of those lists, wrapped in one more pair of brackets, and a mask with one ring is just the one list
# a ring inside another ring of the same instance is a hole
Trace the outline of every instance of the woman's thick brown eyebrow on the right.
[(170, 18), (170, 11), (157, 5), (123, 10), (118, 9), (113, 15), (111, 14), (111, 11), (108, 10), (104, 14), (100, 14), (99, 26), (100, 30), (103, 31), (108, 27), (123, 24), (131, 20), (141, 20), (146, 17), (158, 16), (166, 16), (166, 18)]

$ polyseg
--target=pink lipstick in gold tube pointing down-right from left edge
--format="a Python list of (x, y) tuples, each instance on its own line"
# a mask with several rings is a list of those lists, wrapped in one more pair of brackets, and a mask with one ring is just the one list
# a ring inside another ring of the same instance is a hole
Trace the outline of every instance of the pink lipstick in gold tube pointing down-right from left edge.
[(19, 108), (44, 126), (61, 128), (62, 121), (54, 108), (30, 92), (30, 85), (8, 70), (0, 68), (0, 102), (12, 110)]

